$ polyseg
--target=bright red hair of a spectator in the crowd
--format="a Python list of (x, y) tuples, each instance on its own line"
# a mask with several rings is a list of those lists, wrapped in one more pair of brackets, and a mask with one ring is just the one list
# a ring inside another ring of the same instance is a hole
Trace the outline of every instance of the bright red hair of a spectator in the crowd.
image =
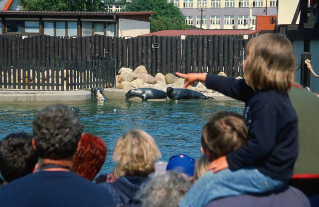
[(100, 137), (82, 134), (73, 161), (74, 172), (93, 181), (104, 164), (106, 152), (106, 145)]

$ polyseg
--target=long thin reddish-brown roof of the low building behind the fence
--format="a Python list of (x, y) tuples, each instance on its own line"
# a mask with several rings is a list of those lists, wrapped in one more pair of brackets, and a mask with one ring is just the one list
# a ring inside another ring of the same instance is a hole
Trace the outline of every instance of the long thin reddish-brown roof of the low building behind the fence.
[(42, 16), (108, 16), (108, 15), (152, 15), (155, 11), (105, 12), (105, 11), (0, 11), (6, 15), (42, 15)]

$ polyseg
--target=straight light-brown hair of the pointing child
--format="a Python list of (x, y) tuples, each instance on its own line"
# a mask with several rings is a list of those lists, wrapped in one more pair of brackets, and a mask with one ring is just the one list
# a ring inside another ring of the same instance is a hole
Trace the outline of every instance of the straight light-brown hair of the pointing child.
[(262, 34), (247, 43), (245, 81), (253, 90), (287, 93), (294, 82), (292, 43), (279, 34)]

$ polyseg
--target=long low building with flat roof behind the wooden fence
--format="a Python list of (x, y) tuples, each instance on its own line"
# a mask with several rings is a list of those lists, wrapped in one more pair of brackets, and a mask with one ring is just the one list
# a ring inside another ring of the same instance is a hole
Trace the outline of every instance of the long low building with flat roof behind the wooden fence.
[(0, 34), (135, 37), (150, 33), (155, 12), (0, 11)]

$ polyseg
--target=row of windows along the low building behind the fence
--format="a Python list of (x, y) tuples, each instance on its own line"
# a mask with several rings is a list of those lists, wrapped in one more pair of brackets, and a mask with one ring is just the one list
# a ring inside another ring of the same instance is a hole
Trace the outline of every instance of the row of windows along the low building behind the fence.
[[(82, 21), (82, 36), (103, 34), (115, 36), (115, 23)], [(2, 23), (0, 24), (2, 25)], [(43, 34), (50, 36), (78, 36), (77, 21), (43, 21)], [(34, 20), (6, 20), (7, 33), (40, 33), (40, 22)]]

